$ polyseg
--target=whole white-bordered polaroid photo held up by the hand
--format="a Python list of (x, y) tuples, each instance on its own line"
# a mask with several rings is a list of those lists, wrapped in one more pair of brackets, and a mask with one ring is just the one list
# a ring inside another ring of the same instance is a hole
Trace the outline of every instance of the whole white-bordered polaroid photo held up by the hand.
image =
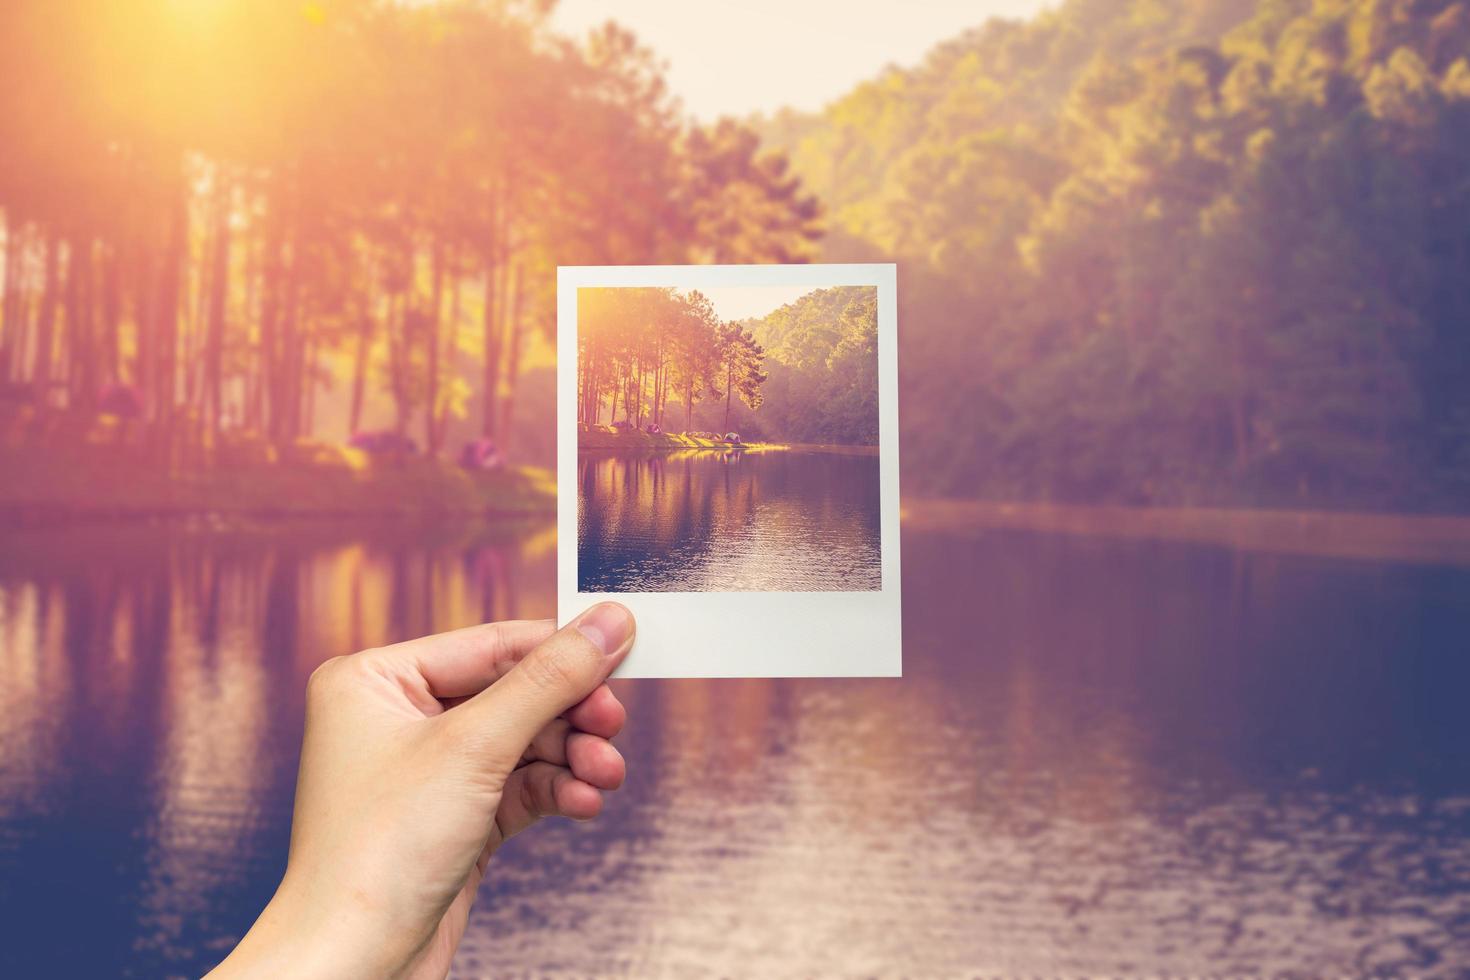
[(892, 264), (557, 269), (560, 620), (619, 677), (895, 677)]

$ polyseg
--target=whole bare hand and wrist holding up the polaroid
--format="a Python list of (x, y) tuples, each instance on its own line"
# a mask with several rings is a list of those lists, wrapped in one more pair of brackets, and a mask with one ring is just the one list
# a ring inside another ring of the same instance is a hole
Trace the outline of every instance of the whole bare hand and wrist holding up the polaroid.
[(210, 976), (445, 976), (495, 848), (591, 820), (622, 783), (604, 682), (632, 641), (603, 602), (560, 630), (475, 626), (318, 667), (285, 877)]

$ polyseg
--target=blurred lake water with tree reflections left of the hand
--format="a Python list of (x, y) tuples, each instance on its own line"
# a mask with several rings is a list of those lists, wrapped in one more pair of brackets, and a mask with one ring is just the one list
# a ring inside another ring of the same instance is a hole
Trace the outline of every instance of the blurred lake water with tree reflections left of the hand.
[(7, 536), (0, 973), (200, 971), (284, 867), (310, 670), (445, 621), (551, 616), (553, 564), (545, 527)]

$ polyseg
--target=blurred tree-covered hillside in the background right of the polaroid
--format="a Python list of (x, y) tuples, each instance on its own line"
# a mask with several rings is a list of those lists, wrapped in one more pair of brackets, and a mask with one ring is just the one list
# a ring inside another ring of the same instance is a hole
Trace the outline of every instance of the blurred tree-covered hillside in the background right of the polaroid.
[(1470, 4), (1070, 0), (757, 128), (900, 263), (911, 491), (1470, 505)]

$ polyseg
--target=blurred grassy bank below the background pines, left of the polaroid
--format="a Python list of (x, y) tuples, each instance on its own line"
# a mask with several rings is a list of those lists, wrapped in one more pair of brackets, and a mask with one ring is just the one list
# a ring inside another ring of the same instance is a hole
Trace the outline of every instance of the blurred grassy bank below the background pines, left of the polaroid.
[(31, 419), (0, 442), (0, 523), (74, 517), (491, 517), (556, 508), (548, 470), (469, 472), (326, 442), (162, 439), (106, 417)]

